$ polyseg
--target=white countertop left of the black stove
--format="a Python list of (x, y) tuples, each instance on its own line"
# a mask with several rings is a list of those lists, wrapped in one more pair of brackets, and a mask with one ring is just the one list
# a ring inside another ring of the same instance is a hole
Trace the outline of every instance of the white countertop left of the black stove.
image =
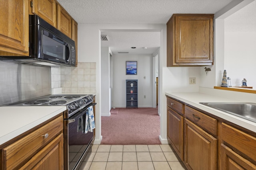
[(0, 107), (0, 145), (66, 110), (66, 106)]

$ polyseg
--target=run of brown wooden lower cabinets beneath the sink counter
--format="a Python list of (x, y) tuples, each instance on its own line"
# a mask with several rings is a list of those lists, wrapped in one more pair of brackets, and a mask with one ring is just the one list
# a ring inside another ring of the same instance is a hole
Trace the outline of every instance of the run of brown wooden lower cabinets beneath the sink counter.
[(169, 96), (167, 139), (188, 170), (256, 170), (256, 133)]

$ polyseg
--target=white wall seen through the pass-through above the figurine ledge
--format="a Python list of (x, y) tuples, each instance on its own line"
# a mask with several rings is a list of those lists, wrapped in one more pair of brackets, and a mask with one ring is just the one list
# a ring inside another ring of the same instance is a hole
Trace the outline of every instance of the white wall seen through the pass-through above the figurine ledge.
[(225, 69), (232, 86), (256, 88), (256, 32), (225, 32)]

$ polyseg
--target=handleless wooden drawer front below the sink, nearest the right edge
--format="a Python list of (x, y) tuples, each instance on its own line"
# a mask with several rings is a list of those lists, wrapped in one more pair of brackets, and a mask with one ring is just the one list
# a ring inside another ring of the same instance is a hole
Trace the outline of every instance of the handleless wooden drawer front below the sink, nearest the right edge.
[(226, 123), (221, 125), (222, 143), (228, 143), (236, 150), (256, 161), (256, 138)]

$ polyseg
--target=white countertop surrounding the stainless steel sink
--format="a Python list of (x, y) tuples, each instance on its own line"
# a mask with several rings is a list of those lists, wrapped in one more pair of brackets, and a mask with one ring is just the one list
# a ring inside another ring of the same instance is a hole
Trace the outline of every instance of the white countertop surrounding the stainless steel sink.
[(198, 109), (202, 109), (212, 115), (216, 115), (222, 119), (230, 121), (236, 125), (249, 129), (250, 131), (256, 132), (256, 123), (249, 121), (247, 119), (243, 119), (236, 115), (232, 115), (230, 113), (226, 113), (224, 111), (220, 111), (218, 109), (214, 109), (212, 107), (205, 106), (203, 104), (199, 104), (200, 102), (241, 102), (239, 100), (228, 99), (219, 96), (213, 96), (198, 92), (191, 93), (165, 93), (167, 96), (180, 100), (184, 103), (190, 104), (191, 106), (197, 107)]

